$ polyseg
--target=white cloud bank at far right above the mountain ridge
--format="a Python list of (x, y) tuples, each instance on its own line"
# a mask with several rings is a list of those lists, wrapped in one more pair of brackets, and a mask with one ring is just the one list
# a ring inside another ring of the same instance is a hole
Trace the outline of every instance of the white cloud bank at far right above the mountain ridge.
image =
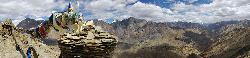
[[(214, 23), (228, 20), (249, 19), (250, 1), (249, 0), (214, 0), (210, 4), (200, 6), (176, 4), (172, 8), (179, 21), (189, 21), (198, 23)], [(180, 19), (185, 18), (185, 19)]]

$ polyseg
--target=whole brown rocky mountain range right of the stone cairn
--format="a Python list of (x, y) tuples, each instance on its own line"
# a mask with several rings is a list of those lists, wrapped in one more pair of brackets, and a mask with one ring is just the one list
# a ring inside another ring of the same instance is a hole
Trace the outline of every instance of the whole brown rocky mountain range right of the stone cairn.
[(131, 17), (111, 24), (94, 22), (119, 37), (114, 58), (235, 58), (250, 54), (249, 20), (157, 23)]

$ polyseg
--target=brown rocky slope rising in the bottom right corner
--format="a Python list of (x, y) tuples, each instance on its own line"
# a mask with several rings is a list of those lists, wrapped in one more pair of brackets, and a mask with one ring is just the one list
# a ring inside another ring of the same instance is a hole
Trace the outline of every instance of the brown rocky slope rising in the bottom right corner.
[(242, 25), (229, 25), (223, 28), (218, 41), (206, 52), (204, 57), (209, 58), (249, 58), (250, 54), (250, 28)]

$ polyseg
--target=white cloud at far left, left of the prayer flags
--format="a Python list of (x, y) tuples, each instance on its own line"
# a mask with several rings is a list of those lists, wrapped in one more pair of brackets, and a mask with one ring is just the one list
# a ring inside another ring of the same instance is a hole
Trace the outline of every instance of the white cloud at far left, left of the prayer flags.
[(23, 20), (25, 16), (49, 16), (51, 11), (62, 2), (53, 0), (0, 0), (0, 17), (14, 19), (15, 23)]

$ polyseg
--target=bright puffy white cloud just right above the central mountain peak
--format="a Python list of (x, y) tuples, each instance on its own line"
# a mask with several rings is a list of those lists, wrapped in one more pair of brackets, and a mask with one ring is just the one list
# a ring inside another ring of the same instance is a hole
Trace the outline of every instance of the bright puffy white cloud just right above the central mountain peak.
[(135, 3), (128, 9), (128, 14), (143, 19), (164, 19), (166, 9), (153, 4)]

